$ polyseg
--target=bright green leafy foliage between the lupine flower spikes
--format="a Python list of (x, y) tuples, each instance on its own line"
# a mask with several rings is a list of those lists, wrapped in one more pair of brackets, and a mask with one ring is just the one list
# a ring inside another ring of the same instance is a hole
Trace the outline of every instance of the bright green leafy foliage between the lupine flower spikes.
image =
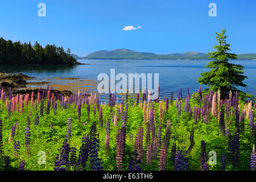
[[(44, 101), (46, 105), (47, 101)], [(197, 94), (193, 94), (193, 99), (191, 99), (190, 106), (193, 108), (201, 106), (203, 101), (197, 99)], [(245, 102), (240, 101), (240, 108), (243, 109)], [(164, 105), (164, 103), (163, 103)], [(76, 147), (77, 152), (82, 144), (82, 135), (90, 133), (90, 127), (93, 122), (97, 123), (97, 132), (99, 133), (100, 139), (100, 150), (99, 158), (102, 160), (102, 166), (104, 170), (117, 170), (116, 165), (116, 135), (117, 129), (122, 126), (122, 119), (119, 118), (117, 121), (117, 127), (113, 126), (112, 113), (110, 112), (110, 106), (102, 105), (103, 109), (103, 127), (98, 125), (98, 111), (96, 110), (96, 115), (93, 115), (93, 106), (90, 105), (90, 121), (87, 118), (86, 105), (81, 107), (81, 121), (77, 118), (77, 105), (74, 103), (68, 105), (67, 109), (59, 108), (59, 101), (57, 104), (57, 115), (53, 114), (53, 108), (51, 108), (49, 114), (41, 116), (39, 115), (39, 125), (34, 125), (34, 118), (36, 112), (39, 113), (40, 108), (34, 109), (28, 106), (24, 106), (23, 113), (16, 113), (16, 111), (11, 113), (11, 117), (8, 117), (8, 111), (5, 104), (0, 106), (0, 118), (3, 121), (3, 152), (4, 155), (9, 155), (11, 158), (11, 166), (17, 169), (17, 161), (14, 158), (14, 140), (20, 141), (20, 156), (21, 159), (24, 157), (26, 170), (53, 170), (55, 164), (55, 156), (59, 154), (59, 149), (63, 145), (63, 141), (67, 134), (67, 119), (72, 118), (71, 122), (71, 147)], [(159, 123), (159, 103), (155, 103), (156, 110), (156, 134), (158, 133), (158, 123)], [(126, 130), (126, 146), (125, 146), (125, 156), (123, 158), (123, 169), (126, 170), (130, 156), (134, 151), (135, 137), (138, 132), (138, 126), (141, 124), (144, 128), (144, 138), (143, 147), (146, 151), (146, 125), (143, 123), (143, 106), (137, 106), (133, 100), (129, 97), (129, 109), (127, 117), (127, 130)], [(166, 123), (171, 121), (171, 137), (170, 145), (167, 150), (167, 170), (174, 170), (174, 164), (171, 161), (171, 144), (176, 143), (177, 148), (180, 150), (187, 150), (189, 147), (189, 136), (192, 127), (195, 129), (195, 146), (192, 148), (191, 153), (188, 156), (188, 170), (200, 170), (200, 143), (204, 140), (206, 143), (207, 154), (209, 151), (216, 151), (217, 154), (217, 164), (210, 166), (210, 170), (220, 170), (221, 166), (221, 155), (228, 155), (228, 137), (226, 135), (220, 135), (219, 123), (216, 117), (210, 116), (210, 122), (204, 123), (202, 119), (195, 124), (192, 114), (185, 113), (184, 111), (184, 100), (181, 101), (181, 114), (177, 115), (177, 108), (174, 104), (169, 105), (168, 111), (164, 112), (164, 118), (160, 121), (162, 122), (162, 140), (166, 135)], [(233, 110), (233, 107), (232, 107)], [(31, 114), (30, 114), (31, 111)], [(115, 109), (113, 108), (115, 112)], [(233, 112), (234, 113), (234, 112)], [(31, 155), (26, 156), (24, 152), (24, 134), (27, 125), (27, 116), (31, 120)], [(105, 151), (105, 136), (106, 136), (106, 121), (110, 118), (110, 139), (109, 139), (109, 149)], [(232, 121), (228, 123), (226, 127), (230, 130), (230, 135), (233, 136), (235, 133), (235, 115), (230, 115), (229, 120)], [(9, 134), (11, 127), (18, 121), (18, 129), (16, 130), (15, 137), (9, 143)], [(51, 123), (53, 125), (51, 129)], [(226, 170), (249, 170), (250, 166), (250, 152), (251, 146), (253, 146), (255, 140), (250, 133), (250, 121), (245, 118), (245, 133), (240, 135), (240, 167), (233, 168), (228, 164)], [(162, 146), (162, 144), (160, 144)], [(46, 164), (38, 164), (39, 151), (46, 152)], [(158, 158), (152, 160), (151, 165), (147, 165), (145, 160), (142, 162), (141, 166), (143, 170), (158, 170), (159, 165), (159, 155), (160, 148), (158, 150)], [(146, 156), (145, 156), (146, 157)], [(3, 169), (3, 159), (0, 159), (0, 169)], [(90, 162), (86, 163), (86, 170), (90, 170)], [(73, 170), (73, 168), (72, 168)]]

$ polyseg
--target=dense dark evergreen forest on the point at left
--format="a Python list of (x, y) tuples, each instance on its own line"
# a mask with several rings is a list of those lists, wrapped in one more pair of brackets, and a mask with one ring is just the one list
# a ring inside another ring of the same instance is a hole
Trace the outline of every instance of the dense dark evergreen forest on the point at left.
[(12, 42), (11, 40), (0, 39), (0, 64), (80, 64), (63, 47), (56, 47), (54, 44), (40, 46), (35, 42), (30, 43)]

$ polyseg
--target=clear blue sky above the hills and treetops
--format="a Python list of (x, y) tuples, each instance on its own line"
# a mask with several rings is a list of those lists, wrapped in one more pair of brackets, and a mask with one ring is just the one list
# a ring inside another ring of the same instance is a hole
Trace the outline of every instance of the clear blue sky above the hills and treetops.
[[(38, 4), (46, 4), (46, 17)], [(209, 3), (217, 16), (210, 17)], [(126, 26), (136, 30), (124, 31)], [(55, 44), (72, 53), (127, 48), (167, 54), (209, 52), (214, 32), (227, 30), (232, 52), (256, 53), (256, 1), (25, 0), (0, 2), (0, 37)]]

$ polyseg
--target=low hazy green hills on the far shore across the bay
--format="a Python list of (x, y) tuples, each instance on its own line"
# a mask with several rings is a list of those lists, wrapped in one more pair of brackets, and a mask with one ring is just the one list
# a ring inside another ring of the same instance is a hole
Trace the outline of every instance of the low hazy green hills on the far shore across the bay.
[[(148, 60), (208, 60), (206, 53), (184, 52), (169, 53), (167, 55), (156, 55), (150, 52), (137, 52), (129, 49), (114, 49), (112, 51), (96, 51), (86, 57), (72, 54), (75, 59), (148, 59)], [(256, 60), (256, 53), (243, 53), (237, 55), (239, 60)]]

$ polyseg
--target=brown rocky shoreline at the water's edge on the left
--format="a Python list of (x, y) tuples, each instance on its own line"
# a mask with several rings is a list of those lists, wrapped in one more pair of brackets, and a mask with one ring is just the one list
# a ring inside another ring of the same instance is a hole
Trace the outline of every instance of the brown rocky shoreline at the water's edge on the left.
[[(9, 74), (9, 73), (0, 73), (0, 89), (6, 92), (6, 96), (8, 96), (10, 88), (13, 95), (17, 94), (31, 94), (32, 92), (37, 93), (38, 88), (35, 89), (28, 89), (26, 85), (33, 84), (33, 85), (40, 85), (41, 82), (27, 82), (26, 80), (33, 79), (35, 77), (23, 75), (22, 73), (18, 74)], [(46, 89), (41, 89), (46, 90)], [(73, 93), (69, 90), (52, 90), (52, 92), (57, 94), (63, 94), (64, 96), (71, 96)]]

